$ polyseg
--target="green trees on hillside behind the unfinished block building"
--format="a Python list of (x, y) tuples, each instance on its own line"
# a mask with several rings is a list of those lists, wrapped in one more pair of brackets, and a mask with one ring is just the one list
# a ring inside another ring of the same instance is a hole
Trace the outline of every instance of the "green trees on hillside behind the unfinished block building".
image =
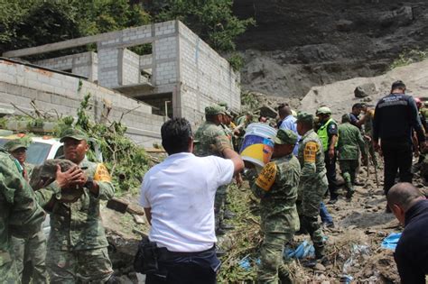
[[(187, 24), (213, 49), (234, 51), (237, 36), (255, 24), (251, 18), (240, 20), (232, 14), (232, 0), (170, 0), (160, 13), (153, 14), (146, 12), (142, 3), (129, 0), (0, 0), (0, 53), (174, 19)], [(51, 55), (95, 49), (95, 45), (88, 45), (55, 51)], [(143, 55), (151, 52), (151, 45), (131, 50)], [(230, 62), (234, 69), (239, 69), (243, 63), (236, 54), (230, 57)]]

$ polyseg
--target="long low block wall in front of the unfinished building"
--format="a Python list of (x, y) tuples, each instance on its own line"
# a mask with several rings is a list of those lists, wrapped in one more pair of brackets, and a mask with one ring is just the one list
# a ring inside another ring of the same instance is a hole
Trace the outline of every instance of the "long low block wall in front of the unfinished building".
[(128, 127), (127, 134), (135, 142), (144, 146), (152, 146), (153, 142), (160, 142), (160, 129), (164, 117), (152, 115), (150, 105), (145, 105), (87, 80), (6, 60), (0, 60), (0, 74), (2, 74), (0, 76), (0, 107), (13, 108), (11, 105), (13, 103), (24, 111), (32, 111), (30, 103), (34, 98), (41, 110), (52, 115), (58, 113), (76, 116), (81, 99), (89, 92), (93, 98), (93, 106), (89, 115), (93, 118), (100, 118), (104, 100), (111, 102), (113, 106), (108, 116), (112, 121), (119, 120), (123, 113), (138, 106), (122, 119), (122, 122)]

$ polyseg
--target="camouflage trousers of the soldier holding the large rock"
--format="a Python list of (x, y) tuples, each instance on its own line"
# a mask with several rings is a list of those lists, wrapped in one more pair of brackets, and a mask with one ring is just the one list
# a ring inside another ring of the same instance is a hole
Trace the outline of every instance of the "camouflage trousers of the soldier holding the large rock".
[(107, 247), (85, 251), (48, 250), (51, 283), (105, 283), (113, 275)]

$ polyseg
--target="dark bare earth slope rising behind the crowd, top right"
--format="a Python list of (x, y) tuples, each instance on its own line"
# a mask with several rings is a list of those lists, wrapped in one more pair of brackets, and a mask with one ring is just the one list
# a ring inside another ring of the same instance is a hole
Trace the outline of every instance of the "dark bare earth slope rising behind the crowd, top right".
[(303, 96), (312, 86), (379, 75), (403, 50), (428, 47), (428, 1), (235, 0), (256, 19), (237, 41), (243, 87)]

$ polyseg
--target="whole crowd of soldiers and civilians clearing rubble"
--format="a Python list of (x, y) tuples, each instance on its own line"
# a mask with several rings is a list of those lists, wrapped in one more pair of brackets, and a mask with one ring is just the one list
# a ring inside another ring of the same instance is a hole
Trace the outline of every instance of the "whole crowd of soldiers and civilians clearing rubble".
[[(220, 259), (228, 255), (217, 237), (235, 229), (228, 224), (235, 217), (228, 190), (236, 188), (230, 187), (233, 182), (241, 187), (244, 179), (260, 200), (263, 242), (256, 281), (301, 283), (283, 259), (285, 245), (294, 234), (309, 234), (315, 255), (302, 264), (331, 264), (325, 231), (335, 224), (324, 200), (351, 202), (356, 187), (367, 188), (360, 167), (371, 167), (376, 179), (383, 169), (386, 208), (378, 214), (394, 213), (404, 225), (395, 249), (402, 283), (425, 283), (428, 201), (412, 182), (428, 160), (428, 103), (407, 95), (398, 80), (376, 105), (357, 102), (346, 114), (326, 105), (315, 114), (296, 113), (286, 103), (276, 111), (276, 118), (239, 116), (219, 103), (205, 107), (205, 122), (194, 133), (185, 118), (163, 124), (168, 157), (142, 177), (139, 199), (150, 232), (135, 251), (134, 268), (145, 283), (217, 282)], [(341, 115), (340, 124), (333, 115)], [(239, 153), (250, 143), (249, 129), (263, 125), (275, 135), (267, 142), (271, 150), (260, 142), (259, 154), (269, 158), (260, 165)], [(88, 160), (88, 139), (77, 128), (61, 134), (64, 159), (44, 165), (51, 167), (51, 177), (43, 176), (43, 165), (34, 169), (25, 161), (23, 139), (6, 142), (0, 151), (1, 283), (121, 283), (108, 256), (102, 224), (108, 220), (100, 215), (100, 201), (114, 197), (115, 188), (107, 167)], [(422, 178), (425, 174), (421, 170)]]

